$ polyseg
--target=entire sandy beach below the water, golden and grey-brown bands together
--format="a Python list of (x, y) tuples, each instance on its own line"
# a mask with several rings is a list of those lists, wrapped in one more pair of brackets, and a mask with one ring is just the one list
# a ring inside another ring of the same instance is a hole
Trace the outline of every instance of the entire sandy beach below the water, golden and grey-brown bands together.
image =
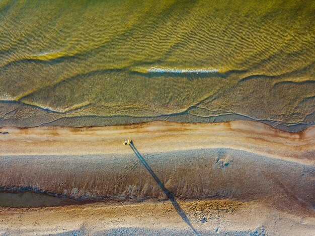
[[(315, 126), (299, 133), (248, 121), (0, 131), (9, 132), (0, 134), (3, 191), (58, 196), (0, 194), (5, 235), (315, 232)], [(133, 140), (151, 174), (123, 138)]]

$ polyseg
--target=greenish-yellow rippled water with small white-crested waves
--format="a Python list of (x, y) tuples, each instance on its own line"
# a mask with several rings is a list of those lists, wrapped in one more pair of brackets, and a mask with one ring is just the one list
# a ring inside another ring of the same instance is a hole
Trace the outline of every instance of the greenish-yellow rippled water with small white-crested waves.
[(313, 1), (2, 1), (0, 125), (300, 129), (315, 121), (314, 22)]

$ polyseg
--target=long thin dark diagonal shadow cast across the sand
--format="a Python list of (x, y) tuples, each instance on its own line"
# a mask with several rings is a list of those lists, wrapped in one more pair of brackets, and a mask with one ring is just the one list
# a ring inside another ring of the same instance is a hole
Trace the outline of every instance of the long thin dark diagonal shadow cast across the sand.
[(189, 227), (191, 227), (191, 229), (194, 231), (194, 233), (196, 235), (199, 235), (199, 233), (197, 232), (197, 230), (192, 226), (192, 224), (190, 223), (188, 217), (186, 216), (185, 212), (183, 211), (183, 209), (181, 208), (181, 206), (178, 204), (178, 202), (176, 201), (176, 199), (174, 198), (173, 194), (170, 193), (170, 191), (164, 186), (164, 184), (162, 183), (162, 181), (159, 179), (159, 177), (157, 177), (155, 175), (155, 173), (153, 172), (153, 170), (150, 168), (150, 166), (147, 164), (147, 162), (144, 160), (143, 156), (140, 154), (140, 152), (137, 150), (137, 148), (134, 146), (133, 142), (130, 142), (131, 149), (133, 150), (133, 152), (135, 153), (135, 155), (137, 156), (137, 158), (140, 160), (140, 162), (142, 163), (142, 165), (145, 167), (145, 169), (150, 173), (150, 175), (153, 177), (153, 179), (155, 180), (155, 182), (160, 186), (160, 188), (163, 190), (163, 192), (165, 193), (165, 195), (170, 199), (171, 203), (173, 204), (175, 210), (177, 211), (177, 213), (182, 217), (182, 219), (189, 225)]

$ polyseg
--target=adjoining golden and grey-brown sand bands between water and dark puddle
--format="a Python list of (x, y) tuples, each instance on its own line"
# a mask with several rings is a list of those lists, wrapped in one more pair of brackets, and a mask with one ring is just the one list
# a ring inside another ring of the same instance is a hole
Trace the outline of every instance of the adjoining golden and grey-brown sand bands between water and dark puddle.
[[(291, 210), (314, 204), (314, 127), (288, 133), (246, 121), (152, 122), (4, 131), (5, 191), (85, 200), (166, 199), (169, 191), (182, 199), (268, 199), (286, 209), (285, 197)], [(125, 136), (132, 137), (132, 146), (122, 145)]]

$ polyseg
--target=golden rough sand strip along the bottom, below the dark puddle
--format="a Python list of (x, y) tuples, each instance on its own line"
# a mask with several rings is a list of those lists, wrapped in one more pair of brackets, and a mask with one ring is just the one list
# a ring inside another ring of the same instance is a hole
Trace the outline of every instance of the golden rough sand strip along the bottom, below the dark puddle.
[[(284, 214), (262, 203), (180, 202), (200, 235), (312, 235), (314, 219)], [(1, 209), (9, 235), (195, 235), (169, 202)], [(7, 235), (8, 235), (7, 234)]]

